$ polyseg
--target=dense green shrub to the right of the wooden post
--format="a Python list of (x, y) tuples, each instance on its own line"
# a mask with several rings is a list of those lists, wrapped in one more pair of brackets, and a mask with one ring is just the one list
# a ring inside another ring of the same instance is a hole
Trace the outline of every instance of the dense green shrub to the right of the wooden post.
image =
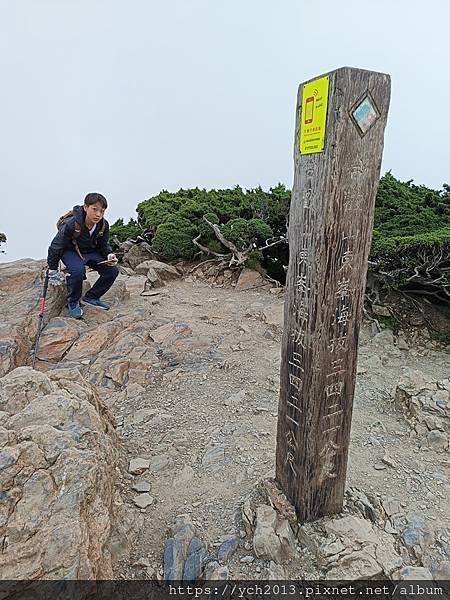
[(383, 286), (450, 298), (450, 187), (440, 191), (386, 173), (378, 188), (370, 253)]

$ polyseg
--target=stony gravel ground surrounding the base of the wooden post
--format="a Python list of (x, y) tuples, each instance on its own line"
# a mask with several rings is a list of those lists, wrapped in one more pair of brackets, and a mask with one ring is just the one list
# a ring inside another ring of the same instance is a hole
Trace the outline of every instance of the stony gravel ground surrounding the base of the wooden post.
[(148, 281), (121, 275), (109, 312), (54, 316), (38, 360), (51, 377), (78, 369), (115, 418), (115, 577), (182, 575), (188, 556), (210, 578), (450, 578), (448, 352), (363, 326), (346, 507), (299, 529), (260, 484), (274, 475), (283, 291)]

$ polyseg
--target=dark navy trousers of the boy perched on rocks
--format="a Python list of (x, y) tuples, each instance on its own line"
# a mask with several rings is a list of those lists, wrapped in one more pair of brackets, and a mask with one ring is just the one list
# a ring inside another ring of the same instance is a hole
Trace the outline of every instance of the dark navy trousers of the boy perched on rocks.
[(73, 250), (66, 250), (61, 258), (66, 265), (67, 272), (70, 274), (66, 279), (67, 301), (70, 304), (78, 302), (81, 298), (83, 280), (86, 279), (86, 266), (95, 269), (100, 275), (91, 289), (86, 293), (87, 298), (101, 298), (103, 294), (106, 294), (119, 274), (117, 267), (98, 264), (105, 260), (98, 252), (83, 254), (83, 259)]

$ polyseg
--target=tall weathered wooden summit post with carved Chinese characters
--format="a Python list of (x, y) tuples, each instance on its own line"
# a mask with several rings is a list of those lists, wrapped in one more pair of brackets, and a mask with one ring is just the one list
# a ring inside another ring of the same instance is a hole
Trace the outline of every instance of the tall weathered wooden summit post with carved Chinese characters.
[(276, 479), (301, 521), (343, 505), (389, 99), (389, 75), (349, 67), (298, 90)]

